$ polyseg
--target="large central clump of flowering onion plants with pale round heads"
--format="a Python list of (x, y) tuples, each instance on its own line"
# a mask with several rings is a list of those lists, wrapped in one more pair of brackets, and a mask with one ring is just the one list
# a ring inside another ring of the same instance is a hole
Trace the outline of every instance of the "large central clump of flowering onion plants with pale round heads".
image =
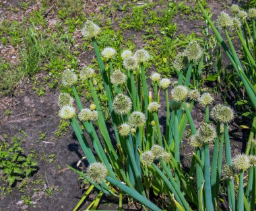
[[(146, 50), (119, 52), (123, 68), (115, 69), (113, 64), (117, 50), (108, 47), (100, 51), (98, 48), (96, 40), (100, 36), (100, 28), (87, 21), (82, 34), (94, 46), (108, 99), (111, 125), (111, 128), (106, 126), (92, 82), (94, 69), (83, 67), (79, 77), (73, 70), (63, 71), (62, 83), (71, 87), (74, 98), (67, 93), (59, 95), (59, 116), (70, 120), (89, 163), (86, 171), (70, 167), (92, 184), (82, 200), (96, 187), (100, 192), (93, 208), (98, 205), (102, 194), (106, 194), (119, 198), (120, 210), (124, 196), (150, 210), (214, 210), (218, 208), (221, 179), (226, 181), (228, 205), (232, 210), (236, 209), (238, 202), (245, 200), (245, 204), (249, 204), (255, 200), (255, 185), (250, 183), (250, 189), (249, 182), (246, 198), (241, 182), (236, 197), (236, 172), (243, 178), (249, 169), (250, 177), (255, 178), (256, 159), (252, 155), (237, 155), (232, 165), (228, 124), (233, 120), (234, 112), (227, 105), (216, 105), (210, 111), (214, 98), (210, 93), (199, 93), (203, 50), (197, 42), (190, 42), (175, 58), (174, 67), (179, 79), (171, 84), (170, 79), (162, 78), (158, 73), (151, 73), (148, 80), (146, 70), (151, 56)], [(92, 103), (88, 108), (84, 108), (77, 94), (75, 86), (78, 81), (89, 84)], [(165, 93), (165, 99), (160, 99), (160, 92)], [(158, 117), (162, 106), (160, 101), (166, 103), (164, 133)], [(205, 108), (205, 117), (199, 128), (195, 127), (191, 116), (194, 103)], [(210, 116), (217, 126), (210, 122)], [(189, 144), (195, 149), (189, 171), (183, 169), (180, 155), (187, 123), (192, 133)], [(211, 144), (214, 144), (212, 165)], [(223, 164), (224, 144), (226, 163)], [(253, 179), (249, 181), (255, 182)], [(158, 200), (153, 202), (154, 195)]]

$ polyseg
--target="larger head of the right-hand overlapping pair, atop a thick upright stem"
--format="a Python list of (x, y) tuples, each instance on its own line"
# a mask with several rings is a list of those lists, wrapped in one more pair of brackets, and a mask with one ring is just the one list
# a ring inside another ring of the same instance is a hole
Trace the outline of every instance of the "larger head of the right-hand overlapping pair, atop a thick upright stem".
[(214, 142), (216, 135), (216, 129), (210, 124), (203, 123), (197, 131), (198, 139), (202, 144), (210, 144)]

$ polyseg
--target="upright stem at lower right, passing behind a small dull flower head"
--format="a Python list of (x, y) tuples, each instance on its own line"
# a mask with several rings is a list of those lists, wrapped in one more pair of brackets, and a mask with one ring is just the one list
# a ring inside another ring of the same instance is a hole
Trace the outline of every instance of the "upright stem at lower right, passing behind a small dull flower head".
[[(224, 124), (224, 140), (225, 140), (225, 153), (226, 153), (226, 164), (227, 165), (232, 165), (232, 160), (231, 160), (231, 151), (230, 151), (230, 140), (229, 140), (229, 134), (228, 134), (228, 125), (225, 123)], [(228, 181), (228, 189), (230, 189), (230, 199), (228, 199), (230, 204), (230, 208), (232, 210), (236, 210), (236, 203), (235, 203), (235, 195), (234, 195), (234, 179), (230, 179)]]

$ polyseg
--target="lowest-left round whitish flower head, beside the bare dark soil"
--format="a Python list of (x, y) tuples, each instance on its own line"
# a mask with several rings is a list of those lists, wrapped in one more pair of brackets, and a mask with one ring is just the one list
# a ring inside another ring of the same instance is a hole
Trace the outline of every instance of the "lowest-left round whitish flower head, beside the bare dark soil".
[(106, 179), (106, 175), (108, 175), (108, 169), (103, 163), (96, 162), (89, 165), (86, 175), (89, 177), (90, 180), (94, 181), (95, 183), (102, 183)]

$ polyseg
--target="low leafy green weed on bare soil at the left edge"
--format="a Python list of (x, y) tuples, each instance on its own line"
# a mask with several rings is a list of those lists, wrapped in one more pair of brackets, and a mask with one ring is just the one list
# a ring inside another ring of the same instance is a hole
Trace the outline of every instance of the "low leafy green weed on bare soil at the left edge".
[(26, 157), (18, 138), (14, 137), (11, 145), (0, 142), (0, 169), (4, 181), (12, 186), (17, 181), (31, 177), (38, 167), (37, 162), (32, 159), (32, 154)]

